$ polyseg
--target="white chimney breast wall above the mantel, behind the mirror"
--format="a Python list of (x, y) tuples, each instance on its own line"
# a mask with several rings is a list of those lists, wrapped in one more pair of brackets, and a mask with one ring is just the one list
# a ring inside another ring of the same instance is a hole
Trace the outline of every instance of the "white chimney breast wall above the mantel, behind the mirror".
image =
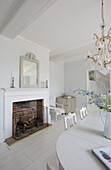
[[(15, 87), (19, 87), (20, 56), (32, 52), (39, 60), (40, 78), (49, 80), (49, 50), (18, 37), (10, 40), (0, 35), (0, 88), (9, 88), (11, 71), (15, 77)], [(0, 93), (0, 96), (1, 93)], [(0, 136), (3, 131), (3, 102), (0, 99)]]

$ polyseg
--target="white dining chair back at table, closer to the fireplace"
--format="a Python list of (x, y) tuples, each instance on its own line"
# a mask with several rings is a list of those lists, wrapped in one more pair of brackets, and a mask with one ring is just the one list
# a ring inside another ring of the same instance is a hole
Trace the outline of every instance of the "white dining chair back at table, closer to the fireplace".
[(64, 117), (65, 129), (68, 129), (68, 122), (70, 127), (77, 123), (76, 113), (68, 113), (68, 115)]

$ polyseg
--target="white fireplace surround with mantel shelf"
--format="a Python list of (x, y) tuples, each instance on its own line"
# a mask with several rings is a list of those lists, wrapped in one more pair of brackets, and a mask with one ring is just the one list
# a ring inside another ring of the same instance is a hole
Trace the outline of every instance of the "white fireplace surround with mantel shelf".
[[(3, 132), (4, 140), (12, 137), (13, 102), (44, 99), (44, 106), (49, 107), (49, 90), (46, 88), (10, 88), (3, 89)], [(48, 109), (49, 110), (49, 109)], [(48, 122), (50, 116), (48, 113)]]

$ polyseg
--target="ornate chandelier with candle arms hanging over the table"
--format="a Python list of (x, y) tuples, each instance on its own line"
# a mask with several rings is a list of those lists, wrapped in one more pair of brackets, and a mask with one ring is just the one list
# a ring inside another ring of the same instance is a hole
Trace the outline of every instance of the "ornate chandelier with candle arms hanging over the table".
[(109, 29), (107, 35), (104, 35), (104, 28), (105, 28), (105, 22), (104, 22), (104, 16), (103, 16), (103, 0), (102, 0), (102, 6), (101, 6), (101, 18), (102, 18), (102, 24), (101, 27), (101, 37), (97, 34), (94, 34), (95, 38), (95, 48), (96, 52), (95, 54), (91, 54), (88, 51), (87, 59), (93, 60), (93, 62), (102, 68), (109, 68), (107, 67), (108, 64), (111, 64), (111, 28)]

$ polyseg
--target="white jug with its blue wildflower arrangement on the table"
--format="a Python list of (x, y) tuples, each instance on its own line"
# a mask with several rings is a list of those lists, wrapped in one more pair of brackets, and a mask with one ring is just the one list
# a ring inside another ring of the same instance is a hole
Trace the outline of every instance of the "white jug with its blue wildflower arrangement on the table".
[[(88, 103), (94, 103), (100, 109), (100, 116), (104, 124), (104, 136), (111, 139), (111, 92), (106, 94), (95, 94), (93, 91), (89, 92), (87, 90), (77, 89), (72, 90), (73, 93), (77, 92), (83, 96), (87, 95), (89, 97)], [(86, 103), (84, 103), (87, 106)], [(106, 111), (105, 122), (102, 117), (102, 111)]]

